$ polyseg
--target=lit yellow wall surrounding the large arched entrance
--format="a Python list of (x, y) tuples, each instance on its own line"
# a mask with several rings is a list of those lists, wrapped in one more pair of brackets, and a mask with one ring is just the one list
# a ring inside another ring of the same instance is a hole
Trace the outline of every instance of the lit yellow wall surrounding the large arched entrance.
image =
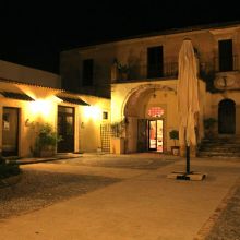
[[(176, 88), (177, 81), (153, 81), (151, 84), (149, 82), (112, 84), (111, 122), (128, 117), (130, 121), (128, 127), (129, 152), (136, 152), (137, 119), (151, 119), (147, 112), (152, 107), (161, 107), (165, 110), (161, 117), (164, 119), (164, 147), (165, 151), (170, 149), (172, 142), (168, 132), (178, 129)], [(139, 94), (140, 92), (141, 94)]]

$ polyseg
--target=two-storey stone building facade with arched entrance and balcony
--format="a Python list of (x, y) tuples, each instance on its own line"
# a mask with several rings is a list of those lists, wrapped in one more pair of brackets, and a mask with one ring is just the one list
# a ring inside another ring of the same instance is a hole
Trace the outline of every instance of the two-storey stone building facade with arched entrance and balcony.
[[(169, 152), (178, 130), (178, 55), (190, 38), (199, 61), (200, 113), (217, 120), (214, 137), (240, 135), (240, 23), (170, 29), (61, 53), (62, 84), (110, 97), (111, 124), (124, 123), (124, 153)], [(194, 146), (193, 146), (194, 147)]]

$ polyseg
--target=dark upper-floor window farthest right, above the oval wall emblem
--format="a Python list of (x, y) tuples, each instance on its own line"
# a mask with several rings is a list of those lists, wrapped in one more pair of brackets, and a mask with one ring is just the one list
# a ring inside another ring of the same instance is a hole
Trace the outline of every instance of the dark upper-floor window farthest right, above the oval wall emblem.
[(232, 56), (232, 40), (219, 40), (218, 41), (219, 52), (219, 71), (232, 71), (233, 70), (233, 56)]

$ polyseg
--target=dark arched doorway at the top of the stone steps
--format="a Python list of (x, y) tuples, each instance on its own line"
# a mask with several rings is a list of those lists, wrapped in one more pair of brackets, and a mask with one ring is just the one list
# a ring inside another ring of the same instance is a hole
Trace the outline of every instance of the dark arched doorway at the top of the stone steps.
[(236, 133), (236, 104), (231, 99), (224, 99), (218, 105), (218, 133)]

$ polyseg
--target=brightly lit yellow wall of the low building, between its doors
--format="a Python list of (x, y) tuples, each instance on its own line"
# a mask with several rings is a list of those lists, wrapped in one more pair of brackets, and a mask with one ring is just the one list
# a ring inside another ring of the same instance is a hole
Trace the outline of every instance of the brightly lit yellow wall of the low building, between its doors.
[[(0, 147), (2, 146), (2, 110), (3, 107), (19, 108), (19, 156), (31, 156), (34, 147), (37, 123), (49, 123), (57, 131), (58, 105), (73, 107), (74, 119), (74, 152), (96, 152), (101, 146), (100, 124), (109, 122), (103, 119), (103, 111), (107, 111), (110, 118), (110, 100), (93, 96), (81, 97), (91, 106), (63, 103), (56, 97), (59, 89), (1, 83), (1, 91), (14, 89), (27, 94), (34, 100), (17, 100), (0, 97)], [(34, 128), (35, 127), (35, 128)]]

